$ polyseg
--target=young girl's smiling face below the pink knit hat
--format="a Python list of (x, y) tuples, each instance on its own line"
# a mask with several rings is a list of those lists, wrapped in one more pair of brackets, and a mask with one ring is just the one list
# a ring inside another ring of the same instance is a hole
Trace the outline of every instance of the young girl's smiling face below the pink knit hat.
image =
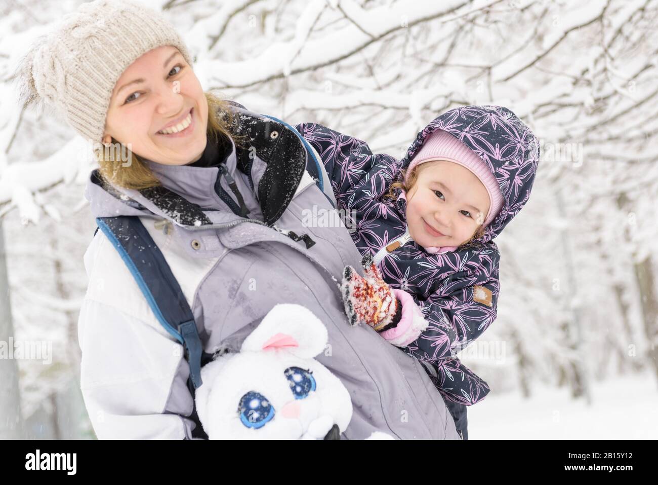
[(451, 161), (418, 165), (407, 194), (407, 226), (423, 247), (460, 246), (470, 239), (489, 211), (489, 194), (470, 170)]

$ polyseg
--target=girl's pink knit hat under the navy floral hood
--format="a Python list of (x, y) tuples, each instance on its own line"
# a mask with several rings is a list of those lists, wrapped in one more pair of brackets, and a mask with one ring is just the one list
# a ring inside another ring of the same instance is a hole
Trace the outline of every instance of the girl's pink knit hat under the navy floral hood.
[[(434, 160), (446, 160), (459, 163), (475, 174), (489, 194), (489, 212), (484, 219), (484, 227), (488, 226), (503, 207), (503, 194), (495, 176), (489, 167), (466, 144), (457, 140), (445, 130), (436, 130), (424, 140), (420, 150), (415, 154), (405, 175), (405, 183), (409, 182), (411, 171), (420, 163)], [(404, 191), (403, 191), (404, 192)], [(406, 196), (406, 194), (403, 194)], [(457, 246), (425, 248), (431, 254), (454, 251)]]

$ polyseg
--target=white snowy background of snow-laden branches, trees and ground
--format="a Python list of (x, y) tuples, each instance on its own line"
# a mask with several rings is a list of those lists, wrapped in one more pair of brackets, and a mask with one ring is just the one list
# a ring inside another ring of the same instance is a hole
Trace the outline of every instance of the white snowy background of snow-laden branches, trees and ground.
[[(53, 353), (0, 359), (0, 438), (94, 438), (76, 330), (93, 163), (13, 83), (80, 3), (0, 4), (0, 341)], [(497, 320), (461, 353), (492, 388), (469, 438), (658, 438), (658, 0), (140, 3), (181, 32), (205, 89), (375, 152), (401, 156), (450, 107), (515, 111), (542, 160), (495, 240)]]

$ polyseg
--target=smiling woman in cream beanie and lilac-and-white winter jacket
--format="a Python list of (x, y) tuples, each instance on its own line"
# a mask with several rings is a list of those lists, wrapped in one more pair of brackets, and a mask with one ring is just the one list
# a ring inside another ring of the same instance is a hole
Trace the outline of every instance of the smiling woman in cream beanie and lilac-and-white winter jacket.
[[(204, 93), (188, 49), (158, 13), (86, 3), (36, 45), (22, 79), (27, 101), (55, 105), (93, 142), (130, 148), (97, 154), (91, 211), (138, 217), (184, 293), (203, 351), (237, 349), (274, 304), (302, 304), (328, 329), (317, 360), (353, 400), (345, 438), (459, 439), (421, 364), (347, 324), (336, 280), (361, 256), (345, 227), (302, 223), (305, 209), (332, 209), (305, 171), (305, 141)], [(84, 260), (81, 387), (97, 436), (203, 438), (186, 349), (103, 231)]]

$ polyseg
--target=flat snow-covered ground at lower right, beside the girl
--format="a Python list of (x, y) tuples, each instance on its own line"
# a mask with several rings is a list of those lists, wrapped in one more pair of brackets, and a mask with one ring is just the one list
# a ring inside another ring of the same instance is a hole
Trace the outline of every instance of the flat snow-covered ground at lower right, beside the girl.
[(468, 409), (469, 440), (655, 440), (658, 389), (650, 372), (592, 382), (592, 405), (569, 389), (496, 395)]

